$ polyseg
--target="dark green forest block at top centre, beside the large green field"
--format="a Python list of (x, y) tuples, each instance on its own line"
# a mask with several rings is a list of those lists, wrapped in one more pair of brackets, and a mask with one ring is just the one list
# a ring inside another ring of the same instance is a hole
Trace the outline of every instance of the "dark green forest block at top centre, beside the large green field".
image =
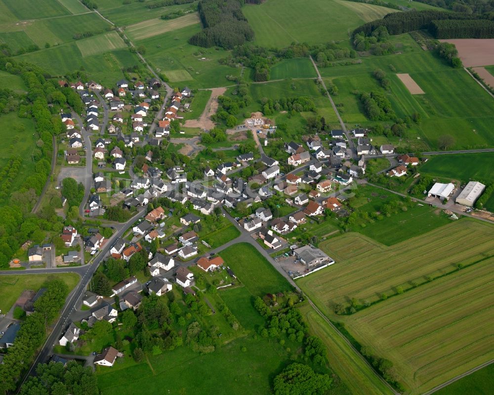
[(198, 4), (199, 17), (204, 29), (189, 39), (198, 46), (221, 46), (232, 49), (254, 39), (254, 31), (242, 13), (241, 0), (202, 0)]

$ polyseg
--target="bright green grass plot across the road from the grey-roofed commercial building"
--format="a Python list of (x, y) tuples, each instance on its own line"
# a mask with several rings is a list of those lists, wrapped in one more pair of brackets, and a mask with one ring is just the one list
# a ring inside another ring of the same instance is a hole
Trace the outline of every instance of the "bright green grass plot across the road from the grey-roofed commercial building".
[(254, 296), (284, 292), (291, 288), (287, 280), (251, 244), (238, 243), (218, 255)]

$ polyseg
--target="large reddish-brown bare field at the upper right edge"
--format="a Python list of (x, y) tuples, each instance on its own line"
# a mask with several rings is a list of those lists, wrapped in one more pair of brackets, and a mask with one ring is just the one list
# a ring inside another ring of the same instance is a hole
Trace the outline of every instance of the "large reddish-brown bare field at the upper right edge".
[(494, 64), (494, 39), (439, 40), (456, 46), (465, 67), (490, 66)]

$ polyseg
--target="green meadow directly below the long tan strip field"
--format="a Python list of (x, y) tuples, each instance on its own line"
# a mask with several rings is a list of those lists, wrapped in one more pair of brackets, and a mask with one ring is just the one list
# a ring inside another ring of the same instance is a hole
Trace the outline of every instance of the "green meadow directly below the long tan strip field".
[[(215, 88), (232, 85), (227, 75), (239, 76), (240, 68), (218, 64), (218, 59), (228, 56), (224, 50), (202, 48), (187, 43), (201, 30), (199, 23), (160, 34), (145, 40), (135, 41), (144, 45), (146, 60), (158, 71), (183, 71), (186, 81), (174, 81), (173, 86), (187, 85), (189, 88)], [(205, 59), (202, 59), (205, 58)], [(165, 73), (166, 74), (166, 73)], [(189, 80), (189, 75), (193, 80)]]

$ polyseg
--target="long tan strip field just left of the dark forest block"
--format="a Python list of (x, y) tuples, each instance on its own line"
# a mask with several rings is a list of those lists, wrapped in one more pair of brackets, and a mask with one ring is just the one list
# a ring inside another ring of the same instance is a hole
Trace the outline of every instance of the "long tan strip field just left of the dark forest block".
[(169, 20), (157, 18), (130, 25), (125, 30), (125, 33), (131, 40), (143, 40), (189, 25), (195, 25), (199, 22), (199, 15), (197, 13), (191, 13)]

